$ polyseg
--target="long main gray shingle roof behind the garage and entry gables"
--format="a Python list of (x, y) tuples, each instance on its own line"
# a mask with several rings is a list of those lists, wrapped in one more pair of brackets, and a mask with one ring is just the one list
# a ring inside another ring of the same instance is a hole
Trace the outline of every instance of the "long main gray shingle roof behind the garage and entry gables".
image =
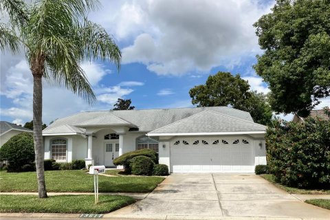
[[(159, 129), (162, 126), (172, 124), (178, 120), (195, 115), (201, 111), (212, 110), (215, 112), (230, 115), (235, 118), (241, 118), (253, 122), (250, 113), (240, 111), (229, 107), (198, 107), (198, 108), (181, 108), (181, 109), (145, 109), (145, 110), (121, 110), (121, 111), (87, 111), (70, 115), (66, 118), (61, 118), (47, 126), (43, 133), (56, 126), (64, 124), (77, 125), (94, 120), (96, 118), (104, 117), (106, 115), (115, 115), (116, 117), (125, 120), (131, 124), (135, 124), (139, 131), (149, 132)], [(104, 119), (104, 118), (103, 118)], [(82, 126), (80, 126), (82, 127)]]

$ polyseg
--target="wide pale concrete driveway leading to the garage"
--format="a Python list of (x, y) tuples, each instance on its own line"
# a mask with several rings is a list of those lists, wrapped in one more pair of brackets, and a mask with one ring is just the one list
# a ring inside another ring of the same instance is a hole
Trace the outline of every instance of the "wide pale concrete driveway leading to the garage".
[(122, 217), (288, 217), (330, 219), (253, 174), (172, 174), (145, 199), (109, 214)]

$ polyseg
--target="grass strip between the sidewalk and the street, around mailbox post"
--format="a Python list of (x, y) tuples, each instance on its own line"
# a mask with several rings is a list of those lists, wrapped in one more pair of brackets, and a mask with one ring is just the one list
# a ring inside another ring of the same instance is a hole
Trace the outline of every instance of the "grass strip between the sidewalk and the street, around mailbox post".
[(102, 214), (118, 210), (135, 202), (135, 199), (119, 195), (100, 195), (94, 203), (94, 195), (58, 195), (39, 199), (34, 195), (0, 195), (0, 212), (50, 212)]

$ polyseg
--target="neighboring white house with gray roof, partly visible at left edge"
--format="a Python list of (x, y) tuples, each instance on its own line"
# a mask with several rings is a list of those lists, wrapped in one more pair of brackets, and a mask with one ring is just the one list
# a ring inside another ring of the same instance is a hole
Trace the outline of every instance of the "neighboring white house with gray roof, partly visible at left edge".
[(22, 132), (33, 133), (30, 129), (25, 129), (23, 126), (12, 124), (10, 122), (0, 121), (0, 147), (10, 140), (10, 137), (18, 135)]

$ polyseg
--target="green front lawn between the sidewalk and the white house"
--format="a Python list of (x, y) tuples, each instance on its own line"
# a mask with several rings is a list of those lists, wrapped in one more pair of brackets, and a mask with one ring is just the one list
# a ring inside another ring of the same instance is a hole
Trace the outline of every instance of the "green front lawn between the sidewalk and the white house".
[[(151, 192), (163, 177), (99, 176), (99, 192)], [(85, 170), (45, 171), (47, 192), (94, 192), (93, 175)], [(38, 192), (36, 172), (0, 172), (0, 192)]]

